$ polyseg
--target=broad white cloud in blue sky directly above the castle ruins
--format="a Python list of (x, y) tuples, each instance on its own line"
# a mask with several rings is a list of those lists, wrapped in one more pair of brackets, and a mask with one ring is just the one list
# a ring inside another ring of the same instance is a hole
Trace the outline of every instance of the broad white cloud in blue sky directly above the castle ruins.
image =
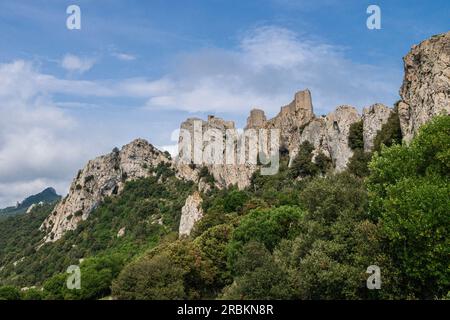
[(338, 47), (266, 26), (245, 34), (235, 50), (200, 50), (179, 58), (164, 77), (167, 90), (147, 108), (247, 114), (252, 106), (276, 113), (298, 90), (312, 91), (316, 112), (341, 104), (392, 103), (397, 70), (352, 62)]

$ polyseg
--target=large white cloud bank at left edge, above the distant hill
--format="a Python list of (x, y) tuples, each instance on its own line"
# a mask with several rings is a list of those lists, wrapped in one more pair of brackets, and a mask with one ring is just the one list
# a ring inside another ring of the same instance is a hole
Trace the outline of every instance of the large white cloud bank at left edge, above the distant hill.
[(45, 88), (57, 79), (31, 63), (0, 64), (0, 207), (53, 186), (65, 193), (98, 143), (57, 108)]

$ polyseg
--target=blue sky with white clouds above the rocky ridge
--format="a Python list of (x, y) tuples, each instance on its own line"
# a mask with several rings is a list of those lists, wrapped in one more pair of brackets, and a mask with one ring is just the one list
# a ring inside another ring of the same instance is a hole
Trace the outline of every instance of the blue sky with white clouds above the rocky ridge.
[(174, 152), (188, 117), (243, 127), (306, 88), (317, 115), (391, 106), (402, 57), (449, 18), (448, 0), (0, 0), (0, 207), (64, 195), (89, 159), (138, 137)]

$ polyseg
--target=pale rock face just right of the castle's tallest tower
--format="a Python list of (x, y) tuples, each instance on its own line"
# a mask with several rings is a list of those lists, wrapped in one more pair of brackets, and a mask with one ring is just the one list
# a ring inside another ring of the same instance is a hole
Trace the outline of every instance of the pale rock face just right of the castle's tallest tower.
[(339, 106), (326, 116), (328, 150), (336, 172), (343, 171), (353, 155), (348, 145), (348, 135), (350, 125), (360, 119), (358, 111), (351, 106)]

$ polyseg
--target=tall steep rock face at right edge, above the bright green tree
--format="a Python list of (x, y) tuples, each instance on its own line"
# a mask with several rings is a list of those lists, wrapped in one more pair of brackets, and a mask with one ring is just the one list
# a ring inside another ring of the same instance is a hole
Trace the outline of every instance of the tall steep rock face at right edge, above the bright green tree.
[(450, 32), (414, 46), (403, 61), (398, 112), (403, 139), (410, 141), (432, 117), (450, 113)]

